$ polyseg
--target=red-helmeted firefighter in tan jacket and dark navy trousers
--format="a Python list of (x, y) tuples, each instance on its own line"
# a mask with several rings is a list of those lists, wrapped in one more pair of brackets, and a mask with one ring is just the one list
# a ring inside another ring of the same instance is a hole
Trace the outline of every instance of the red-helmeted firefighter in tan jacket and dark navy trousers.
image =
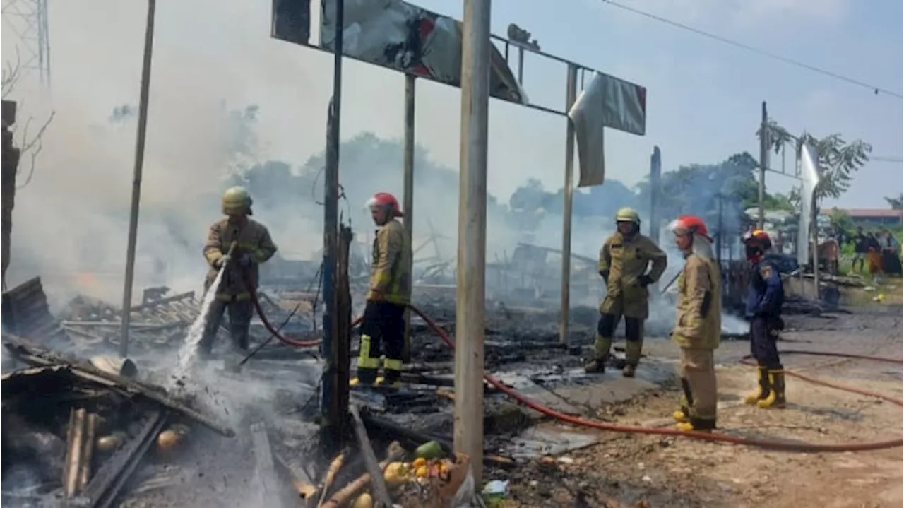
[[(405, 307), (411, 301), (408, 271), (411, 242), (399, 201), (391, 193), (376, 193), (367, 202), (374, 224), (370, 288), (361, 322), (358, 349), (358, 377), (351, 385), (397, 384), (401, 377), (405, 349)], [(380, 355), (384, 354), (384, 378), (378, 378)]]

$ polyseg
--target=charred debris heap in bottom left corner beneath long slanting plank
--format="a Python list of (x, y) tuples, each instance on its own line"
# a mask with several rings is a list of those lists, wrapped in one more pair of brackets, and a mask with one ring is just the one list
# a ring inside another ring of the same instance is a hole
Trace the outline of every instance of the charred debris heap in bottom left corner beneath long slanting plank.
[(0, 338), (0, 505), (112, 506), (142, 460), (166, 460), (193, 428), (233, 435), (188, 401), (138, 381), (132, 362)]

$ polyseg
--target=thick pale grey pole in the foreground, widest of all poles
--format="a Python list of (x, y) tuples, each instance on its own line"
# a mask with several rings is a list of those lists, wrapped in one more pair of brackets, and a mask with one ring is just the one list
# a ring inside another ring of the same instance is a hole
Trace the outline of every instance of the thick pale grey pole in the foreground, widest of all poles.
[(458, 175), (455, 449), (484, 470), (484, 305), (486, 152), (490, 98), (490, 0), (464, 0), (461, 59), (461, 170)]

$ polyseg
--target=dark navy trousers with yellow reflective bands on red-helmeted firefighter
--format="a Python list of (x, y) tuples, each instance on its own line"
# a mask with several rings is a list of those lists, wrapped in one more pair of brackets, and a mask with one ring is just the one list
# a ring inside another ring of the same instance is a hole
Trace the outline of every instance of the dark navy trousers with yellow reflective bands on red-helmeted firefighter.
[(358, 348), (358, 381), (374, 383), (384, 355), (386, 382), (399, 381), (401, 357), (405, 350), (405, 306), (390, 302), (368, 301), (361, 322)]

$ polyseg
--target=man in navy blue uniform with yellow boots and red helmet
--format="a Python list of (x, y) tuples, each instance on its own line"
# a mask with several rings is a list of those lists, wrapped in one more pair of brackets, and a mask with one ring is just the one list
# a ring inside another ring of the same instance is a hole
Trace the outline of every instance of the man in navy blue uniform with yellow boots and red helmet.
[(764, 230), (744, 234), (744, 249), (750, 262), (750, 283), (745, 315), (750, 322), (750, 353), (757, 360), (759, 382), (756, 391), (744, 398), (759, 408), (785, 407), (785, 371), (778, 358), (776, 341), (782, 322), (785, 287), (775, 263), (764, 258), (772, 240)]

